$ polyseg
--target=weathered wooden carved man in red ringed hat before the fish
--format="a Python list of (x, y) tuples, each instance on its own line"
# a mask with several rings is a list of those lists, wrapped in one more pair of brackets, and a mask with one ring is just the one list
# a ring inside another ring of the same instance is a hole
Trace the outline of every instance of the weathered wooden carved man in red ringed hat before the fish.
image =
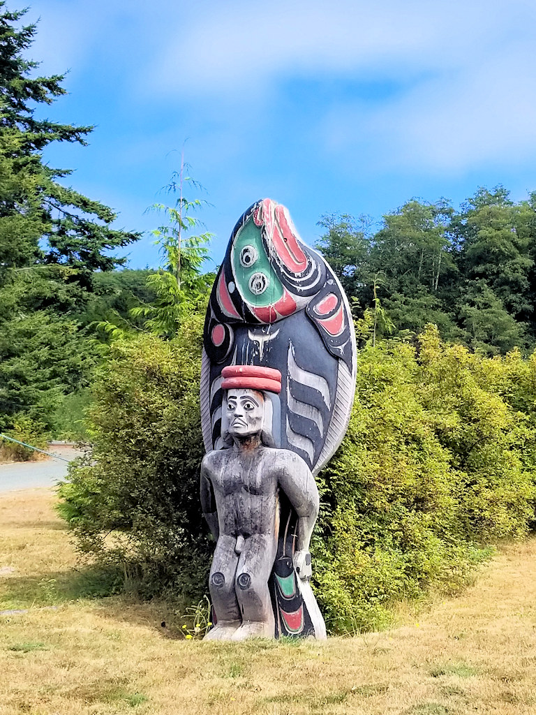
[(309, 542), (319, 508), (305, 461), (269, 446), (269, 393), (279, 392), (280, 373), (264, 368), (269, 378), (252, 378), (241, 369), (226, 368), (233, 376), (222, 382), (222, 437), (228, 446), (205, 455), (201, 470), (203, 513), (217, 540), (209, 576), (217, 625), (205, 636), (211, 640), (274, 638), (268, 581), (277, 551), (279, 490), (298, 516), (294, 568), (301, 579), (311, 573)]

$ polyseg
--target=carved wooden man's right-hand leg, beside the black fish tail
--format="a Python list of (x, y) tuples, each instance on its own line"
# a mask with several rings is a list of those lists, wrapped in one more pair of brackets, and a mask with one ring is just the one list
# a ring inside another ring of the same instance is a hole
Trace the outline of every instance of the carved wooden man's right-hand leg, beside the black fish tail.
[(235, 578), (242, 626), (234, 633), (233, 640), (274, 637), (275, 620), (268, 579), (274, 566), (276, 547), (273, 534), (254, 534), (244, 543)]

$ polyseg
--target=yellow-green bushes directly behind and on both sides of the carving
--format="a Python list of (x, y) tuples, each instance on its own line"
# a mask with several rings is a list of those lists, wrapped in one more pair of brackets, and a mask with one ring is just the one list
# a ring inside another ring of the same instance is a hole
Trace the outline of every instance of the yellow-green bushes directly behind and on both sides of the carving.
[[(202, 318), (112, 346), (90, 410), (91, 461), (61, 513), (82, 552), (144, 596), (197, 603), (213, 545), (199, 504)], [(349, 429), (319, 475), (314, 583), (333, 632), (378, 628), (392, 603), (455, 592), (490, 545), (534, 519), (536, 358), (440, 342), (359, 353)]]

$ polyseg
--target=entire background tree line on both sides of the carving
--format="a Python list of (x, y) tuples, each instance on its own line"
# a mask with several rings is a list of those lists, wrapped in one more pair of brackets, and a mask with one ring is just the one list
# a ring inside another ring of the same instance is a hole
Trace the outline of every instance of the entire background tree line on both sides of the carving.
[[(198, 199), (180, 167), (156, 230), (162, 270), (126, 270), (121, 250), (141, 236), (49, 167), (54, 142), (86, 144), (91, 126), (44, 119), (64, 76), (26, 59), (36, 34), (0, 0), (0, 430), (66, 436), (81, 425), (93, 370), (118, 335), (177, 334), (202, 310), (213, 279), (209, 236), (189, 235)], [(178, 195), (178, 198), (177, 198)], [(324, 216), (317, 247), (339, 276), (369, 339), (412, 339), (434, 323), (443, 339), (486, 355), (536, 344), (536, 192), (513, 202), (480, 188), (455, 209), (412, 199), (385, 215)], [(375, 229), (375, 230), (374, 230)], [(80, 427), (83, 432), (83, 425)], [(78, 430), (78, 431), (80, 431)]]

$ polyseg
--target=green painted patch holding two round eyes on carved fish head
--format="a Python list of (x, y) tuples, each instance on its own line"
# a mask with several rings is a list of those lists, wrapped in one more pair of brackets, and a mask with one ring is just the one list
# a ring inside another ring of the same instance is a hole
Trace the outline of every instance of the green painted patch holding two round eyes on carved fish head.
[[(245, 252), (245, 253), (244, 253)], [(240, 256), (245, 255), (247, 266), (242, 265)], [(283, 297), (283, 285), (275, 274), (262, 246), (261, 230), (253, 219), (244, 225), (234, 240), (231, 256), (234, 280), (240, 295), (249, 305), (267, 307)], [(257, 277), (257, 280), (256, 280)], [(250, 288), (250, 281), (266, 285), (266, 289), (256, 293)]]

